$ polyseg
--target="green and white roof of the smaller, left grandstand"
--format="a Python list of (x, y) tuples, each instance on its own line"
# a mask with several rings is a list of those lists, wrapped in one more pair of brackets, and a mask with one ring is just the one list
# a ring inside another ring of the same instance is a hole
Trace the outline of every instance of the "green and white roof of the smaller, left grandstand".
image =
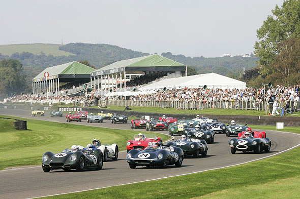
[(45, 72), (49, 73), (49, 79), (52, 78), (90, 78), (91, 72), (95, 71), (94, 68), (81, 64), (77, 61), (72, 61), (69, 63), (52, 66), (45, 68), (42, 72), (40, 72), (35, 78), (33, 78), (33, 82), (45, 81), (46, 78), (44, 76)]

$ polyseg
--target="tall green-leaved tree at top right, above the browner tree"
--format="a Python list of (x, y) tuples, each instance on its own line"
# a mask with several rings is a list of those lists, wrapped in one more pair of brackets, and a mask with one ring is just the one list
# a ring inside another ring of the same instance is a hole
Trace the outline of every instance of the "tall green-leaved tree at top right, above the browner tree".
[(279, 44), (289, 37), (300, 35), (300, 1), (286, 0), (282, 7), (277, 5), (272, 10), (273, 16), (267, 16), (263, 25), (257, 30), (258, 42), (255, 43), (255, 55), (260, 58), (262, 75), (271, 74), (271, 66), (280, 53)]

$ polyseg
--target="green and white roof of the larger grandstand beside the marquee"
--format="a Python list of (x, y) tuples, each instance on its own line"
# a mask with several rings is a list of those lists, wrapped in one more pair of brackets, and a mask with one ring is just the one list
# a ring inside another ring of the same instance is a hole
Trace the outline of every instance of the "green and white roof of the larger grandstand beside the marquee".
[(124, 71), (185, 71), (186, 65), (154, 54), (114, 62), (91, 73), (91, 76)]

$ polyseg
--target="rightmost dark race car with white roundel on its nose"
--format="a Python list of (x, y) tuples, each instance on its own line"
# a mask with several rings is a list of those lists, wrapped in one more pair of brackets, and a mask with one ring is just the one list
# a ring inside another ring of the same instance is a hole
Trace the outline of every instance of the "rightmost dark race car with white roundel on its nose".
[(255, 153), (261, 153), (263, 150), (269, 152), (271, 148), (271, 140), (269, 138), (231, 138), (229, 140), (229, 146), (231, 153), (234, 154), (235, 151), (254, 151)]

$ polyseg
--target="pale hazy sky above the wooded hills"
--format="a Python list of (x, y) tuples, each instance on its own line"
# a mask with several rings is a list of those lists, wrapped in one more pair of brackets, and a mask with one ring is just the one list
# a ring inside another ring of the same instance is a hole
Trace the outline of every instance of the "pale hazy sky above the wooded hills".
[(250, 54), (256, 30), (283, 1), (3, 1), (0, 45), (63, 40), (191, 57)]

